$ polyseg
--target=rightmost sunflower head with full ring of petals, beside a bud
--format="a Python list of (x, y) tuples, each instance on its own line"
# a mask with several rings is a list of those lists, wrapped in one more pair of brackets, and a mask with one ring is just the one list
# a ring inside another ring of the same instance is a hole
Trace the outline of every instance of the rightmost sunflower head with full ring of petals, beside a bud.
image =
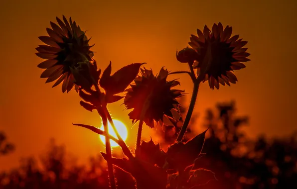
[(248, 42), (238, 39), (239, 35), (231, 37), (232, 27), (227, 25), (223, 29), (220, 22), (218, 25), (213, 24), (211, 31), (206, 25), (203, 33), (197, 29), (197, 34), (191, 35), (189, 42), (197, 52), (193, 64), (197, 75), (203, 73), (202, 81), (208, 80), (211, 89), (219, 89), (220, 84), (235, 84), (237, 78), (232, 72), (245, 68), (243, 62), (250, 61), (247, 58), (250, 55), (246, 52), (247, 48), (243, 48)]

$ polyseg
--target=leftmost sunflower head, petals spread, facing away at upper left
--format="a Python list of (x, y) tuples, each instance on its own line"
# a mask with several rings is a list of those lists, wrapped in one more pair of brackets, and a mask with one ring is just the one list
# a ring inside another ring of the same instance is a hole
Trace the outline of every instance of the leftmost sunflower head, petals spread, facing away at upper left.
[[(46, 28), (49, 36), (38, 37), (46, 45), (39, 45), (36, 48), (36, 55), (42, 59), (37, 67), (46, 69), (41, 78), (47, 78), (46, 83), (55, 82), (55, 87), (63, 82), (62, 92), (67, 93), (73, 88), (75, 79), (71, 70), (79, 67), (78, 63), (90, 61), (94, 63), (93, 52), (90, 51), (89, 40), (76, 22), (69, 22), (63, 15), (63, 21), (56, 17), (59, 26), (50, 22), (52, 29)], [(97, 66), (96, 66), (97, 67)]]

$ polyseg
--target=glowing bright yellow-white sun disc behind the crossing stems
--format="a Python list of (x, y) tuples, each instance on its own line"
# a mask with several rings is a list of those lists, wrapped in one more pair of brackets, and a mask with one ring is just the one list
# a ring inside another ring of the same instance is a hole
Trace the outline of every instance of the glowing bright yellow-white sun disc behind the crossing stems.
[[(126, 141), (127, 140), (127, 137), (128, 137), (128, 130), (127, 130), (126, 125), (124, 123), (122, 123), (121, 121), (116, 120), (116, 119), (113, 119), (113, 121), (114, 121), (115, 127), (116, 127), (117, 131), (119, 132), (120, 136), (122, 137), (122, 139), (124, 141)], [(101, 125), (100, 129), (101, 130), (104, 130), (103, 124)], [(116, 136), (116, 133), (115, 133), (114, 129), (112, 128), (112, 126), (111, 126), (111, 124), (109, 122), (108, 122), (108, 132), (113, 137), (118, 138)], [(100, 140), (101, 140), (102, 143), (105, 144), (105, 136), (100, 135)], [(111, 145), (111, 147), (117, 147), (117, 146), (119, 146), (113, 140), (110, 140), (110, 145)]]

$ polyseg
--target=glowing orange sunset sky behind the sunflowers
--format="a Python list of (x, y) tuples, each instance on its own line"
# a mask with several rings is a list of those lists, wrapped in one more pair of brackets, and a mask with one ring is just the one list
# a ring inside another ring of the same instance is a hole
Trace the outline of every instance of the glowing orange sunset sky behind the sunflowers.
[[(62, 94), (61, 86), (52, 89), (53, 84), (39, 78), (41, 59), (34, 54), (41, 44), (37, 37), (46, 35), (49, 22), (62, 14), (88, 30), (91, 43), (96, 43), (95, 59), (103, 69), (111, 60), (113, 71), (135, 62), (147, 62), (154, 73), (162, 66), (186, 69), (175, 59), (175, 51), (187, 45), (190, 34), (204, 24), (229, 24), (234, 34), (249, 41), (252, 61), (235, 73), (236, 85), (211, 91), (203, 84), (195, 110), (202, 117), (217, 101), (236, 99), (239, 114), (251, 116), (246, 131), (252, 137), (282, 136), (297, 129), (293, 118), (297, 112), (296, 0), (3, 0), (0, 130), (16, 144), (16, 151), (0, 157), (0, 170), (16, 166), (22, 156), (44, 152), (51, 137), (82, 161), (103, 150), (98, 136), (71, 124), (99, 126), (96, 112), (84, 110), (74, 91)], [(191, 93), (189, 78), (178, 77), (182, 88)], [(110, 105), (111, 113), (131, 127), (121, 103)], [(135, 133), (136, 127), (131, 135)]]

